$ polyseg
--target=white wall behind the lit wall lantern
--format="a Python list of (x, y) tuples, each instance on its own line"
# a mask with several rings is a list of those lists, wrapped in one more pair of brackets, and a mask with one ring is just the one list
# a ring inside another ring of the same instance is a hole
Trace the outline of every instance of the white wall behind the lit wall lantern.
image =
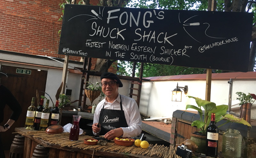
[[(228, 105), (229, 83), (228, 80), (212, 80), (211, 101), (216, 105)], [(185, 95), (182, 90), (182, 101), (172, 101), (172, 91), (176, 88), (177, 82), (180, 87), (188, 85), (188, 94)], [(242, 91), (246, 94), (256, 93), (256, 80), (233, 80), (232, 104), (237, 104), (236, 92)], [(196, 106), (194, 99), (186, 96), (198, 97), (205, 99), (205, 80), (179, 80), (179, 81), (151, 81), (143, 82), (140, 93), (140, 113), (151, 117), (172, 117), (172, 113), (176, 110), (186, 110), (186, 105)], [(238, 107), (238, 108), (237, 108)], [(235, 106), (231, 109), (239, 114), (239, 107)], [(256, 102), (252, 107), (252, 119), (256, 119)], [(238, 110), (235, 110), (238, 109)], [(188, 109), (193, 110), (193, 109)]]

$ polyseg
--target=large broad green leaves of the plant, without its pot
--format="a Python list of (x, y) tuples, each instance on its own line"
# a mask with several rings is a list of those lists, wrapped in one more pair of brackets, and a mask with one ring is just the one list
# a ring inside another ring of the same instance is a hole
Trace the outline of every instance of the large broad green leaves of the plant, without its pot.
[[(226, 114), (228, 105), (218, 105), (216, 106), (215, 103), (207, 101), (207, 100), (202, 100), (200, 98), (188, 96), (188, 98), (193, 98), (196, 101), (197, 107), (194, 105), (187, 105), (186, 109), (191, 108), (195, 109), (198, 111), (200, 115), (200, 120), (193, 121), (191, 126), (196, 126), (198, 129), (201, 129), (200, 132), (202, 132), (202, 135), (206, 136), (206, 128), (211, 122), (211, 115), (212, 113), (215, 113), (215, 122), (219, 122), (220, 120), (226, 119), (226, 122), (221, 124), (220, 126), (228, 123), (228, 122), (236, 122), (236, 123), (242, 123), (244, 125), (250, 126), (250, 123), (245, 121), (243, 118), (238, 118), (234, 115), (231, 114)], [(202, 110), (204, 109), (204, 112)], [(204, 118), (203, 118), (204, 114)], [(220, 127), (218, 126), (218, 127)]]

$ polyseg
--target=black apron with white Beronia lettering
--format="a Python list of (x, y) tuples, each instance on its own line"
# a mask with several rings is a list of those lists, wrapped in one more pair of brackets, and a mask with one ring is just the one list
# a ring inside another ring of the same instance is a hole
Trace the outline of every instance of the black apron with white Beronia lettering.
[(104, 109), (105, 103), (100, 111), (100, 135), (105, 135), (108, 131), (114, 130), (119, 127), (128, 127), (124, 116), (124, 110), (122, 106), (122, 99), (120, 95), (120, 107), (121, 110)]

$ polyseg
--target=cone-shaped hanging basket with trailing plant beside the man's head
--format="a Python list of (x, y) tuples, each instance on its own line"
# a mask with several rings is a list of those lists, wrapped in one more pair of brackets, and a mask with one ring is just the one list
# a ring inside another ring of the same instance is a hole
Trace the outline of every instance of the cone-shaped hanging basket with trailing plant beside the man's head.
[(85, 85), (84, 93), (86, 97), (90, 99), (91, 105), (92, 105), (92, 102), (100, 96), (102, 89), (100, 87), (99, 82), (96, 82), (96, 84), (92, 82), (86, 82), (86, 83), (87, 84)]

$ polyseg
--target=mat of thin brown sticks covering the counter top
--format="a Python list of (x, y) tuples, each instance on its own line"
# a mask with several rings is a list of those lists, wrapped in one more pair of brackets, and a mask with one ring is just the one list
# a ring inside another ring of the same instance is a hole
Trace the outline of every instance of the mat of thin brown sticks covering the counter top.
[(45, 131), (29, 131), (22, 135), (33, 135), (35, 138), (41, 138), (44, 141), (49, 142), (50, 144), (60, 145), (61, 147), (74, 147), (80, 148), (83, 150), (93, 149), (97, 151), (115, 151), (117, 153), (130, 153), (137, 155), (146, 155), (152, 157), (153, 155), (161, 158), (180, 158), (180, 156), (175, 154), (175, 147), (169, 147), (164, 145), (152, 145), (150, 144), (148, 148), (143, 149), (135, 145), (132, 146), (119, 146), (115, 144), (114, 140), (108, 142), (106, 146), (101, 145), (86, 145), (84, 144), (84, 139), (92, 138), (87, 135), (80, 135), (78, 141), (70, 141), (69, 133), (60, 133), (60, 134), (46, 134)]

